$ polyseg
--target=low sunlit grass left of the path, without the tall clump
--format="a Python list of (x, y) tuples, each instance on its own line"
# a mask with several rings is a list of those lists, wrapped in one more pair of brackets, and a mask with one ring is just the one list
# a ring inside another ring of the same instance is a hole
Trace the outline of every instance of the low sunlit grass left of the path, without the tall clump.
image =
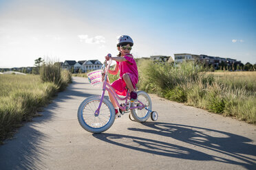
[(0, 141), (22, 121), (30, 120), (58, 90), (38, 75), (0, 75)]

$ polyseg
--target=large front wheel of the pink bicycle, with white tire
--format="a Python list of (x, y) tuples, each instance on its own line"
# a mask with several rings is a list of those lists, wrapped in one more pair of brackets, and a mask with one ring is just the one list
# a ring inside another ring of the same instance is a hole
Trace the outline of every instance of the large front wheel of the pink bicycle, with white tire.
[(100, 104), (100, 96), (92, 96), (85, 99), (78, 108), (78, 121), (80, 125), (94, 134), (104, 132), (111, 127), (115, 121), (115, 110), (108, 99), (103, 99), (98, 115), (95, 111)]

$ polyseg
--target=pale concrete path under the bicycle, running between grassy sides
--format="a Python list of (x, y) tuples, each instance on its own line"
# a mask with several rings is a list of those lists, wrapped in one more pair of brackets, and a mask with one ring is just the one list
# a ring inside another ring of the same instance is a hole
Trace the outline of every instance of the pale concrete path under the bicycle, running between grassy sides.
[(157, 122), (116, 119), (103, 134), (79, 125), (81, 101), (100, 94), (74, 83), (0, 146), (0, 169), (256, 169), (256, 127), (151, 95)]

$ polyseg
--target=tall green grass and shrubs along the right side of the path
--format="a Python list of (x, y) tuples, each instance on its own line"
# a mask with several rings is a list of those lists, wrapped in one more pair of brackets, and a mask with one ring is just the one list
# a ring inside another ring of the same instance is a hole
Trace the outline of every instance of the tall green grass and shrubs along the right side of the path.
[(212, 74), (193, 62), (173, 66), (150, 60), (140, 60), (138, 70), (142, 90), (256, 123), (256, 73)]

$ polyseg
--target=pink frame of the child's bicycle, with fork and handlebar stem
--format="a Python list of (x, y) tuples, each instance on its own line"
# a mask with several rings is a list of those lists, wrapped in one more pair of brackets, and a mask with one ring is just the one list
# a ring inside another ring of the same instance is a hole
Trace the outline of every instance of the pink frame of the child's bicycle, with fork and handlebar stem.
[[(120, 108), (121, 110), (126, 110), (126, 107), (127, 107), (127, 101), (128, 101), (128, 98), (129, 98), (129, 90), (128, 90), (128, 93), (126, 95), (126, 97), (119, 97), (114, 88), (111, 87), (111, 85), (107, 82), (107, 73), (109, 71), (109, 66), (111, 64), (112, 60), (110, 58), (109, 60), (109, 63), (107, 64), (107, 68), (105, 68), (105, 74), (104, 74), (104, 79), (103, 79), (103, 91), (102, 91), (102, 94), (101, 94), (101, 98), (100, 98), (100, 104), (97, 108), (97, 110), (95, 111), (95, 115), (98, 116), (98, 114), (100, 113), (100, 107), (103, 103), (103, 99), (104, 99), (104, 95), (105, 95), (105, 91), (107, 90), (109, 93), (111, 93), (112, 96), (114, 96), (114, 100), (115, 100), (115, 103), (117, 104), (118, 108)], [(106, 63), (106, 61), (104, 62)], [(116, 99), (118, 98), (119, 100), (124, 100), (125, 101), (125, 106), (120, 106), (120, 104), (118, 103), (118, 100)], [(141, 101), (138, 100), (138, 102), (141, 104), (140, 106), (134, 106), (134, 107), (130, 107), (129, 109), (135, 109), (135, 108), (138, 108), (138, 109), (142, 109), (142, 108), (145, 108), (145, 105), (142, 104)]]

